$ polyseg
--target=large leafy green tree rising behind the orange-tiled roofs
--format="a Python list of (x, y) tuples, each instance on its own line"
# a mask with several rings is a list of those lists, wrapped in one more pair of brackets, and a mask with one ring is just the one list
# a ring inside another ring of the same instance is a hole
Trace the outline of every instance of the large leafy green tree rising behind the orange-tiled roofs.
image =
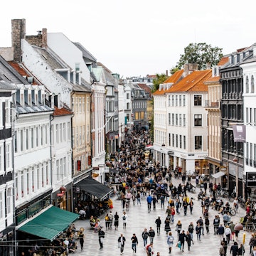
[(198, 64), (198, 70), (206, 69), (208, 63), (211, 66), (217, 65), (220, 58), (223, 57), (222, 50), (222, 48), (212, 47), (206, 43), (190, 43), (184, 48), (184, 54), (180, 55), (181, 58), (178, 60), (176, 68), (181, 69), (186, 63)]

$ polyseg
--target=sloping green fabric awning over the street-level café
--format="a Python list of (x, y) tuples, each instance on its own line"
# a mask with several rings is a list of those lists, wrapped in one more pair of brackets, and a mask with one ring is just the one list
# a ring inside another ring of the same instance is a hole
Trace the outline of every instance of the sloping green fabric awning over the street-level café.
[(22, 225), (18, 230), (36, 235), (39, 238), (53, 240), (78, 217), (78, 214), (52, 206), (33, 220)]

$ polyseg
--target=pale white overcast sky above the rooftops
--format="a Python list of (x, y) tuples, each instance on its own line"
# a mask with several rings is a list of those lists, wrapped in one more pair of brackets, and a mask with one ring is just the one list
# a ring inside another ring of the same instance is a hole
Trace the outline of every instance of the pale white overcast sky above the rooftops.
[(11, 46), (11, 19), (26, 19), (26, 35), (62, 32), (82, 43), (113, 73), (166, 73), (189, 43), (223, 48), (256, 43), (253, 0), (13, 0), (1, 4), (0, 47)]

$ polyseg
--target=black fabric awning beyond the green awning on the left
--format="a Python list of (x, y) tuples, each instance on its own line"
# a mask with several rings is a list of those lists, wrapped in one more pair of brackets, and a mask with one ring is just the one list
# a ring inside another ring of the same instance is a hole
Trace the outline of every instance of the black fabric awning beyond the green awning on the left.
[(111, 188), (108, 188), (99, 181), (95, 181), (95, 179), (91, 177), (84, 178), (82, 181), (76, 183), (75, 186), (80, 186), (82, 190), (96, 196), (100, 200), (112, 192)]

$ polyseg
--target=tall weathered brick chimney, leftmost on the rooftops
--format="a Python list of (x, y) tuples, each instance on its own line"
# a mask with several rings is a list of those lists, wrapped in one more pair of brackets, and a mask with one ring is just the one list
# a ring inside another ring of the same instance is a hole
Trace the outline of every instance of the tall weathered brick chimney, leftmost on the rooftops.
[(11, 46), (14, 48), (14, 61), (21, 63), (21, 39), (26, 36), (26, 19), (11, 20)]

